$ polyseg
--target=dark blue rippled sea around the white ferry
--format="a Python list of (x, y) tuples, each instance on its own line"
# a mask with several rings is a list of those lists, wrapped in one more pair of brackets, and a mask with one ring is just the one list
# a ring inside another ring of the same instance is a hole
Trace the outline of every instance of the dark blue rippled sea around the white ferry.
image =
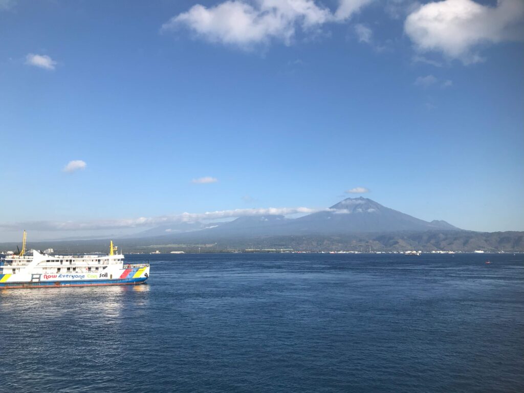
[(126, 260), (148, 285), (0, 290), (0, 391), (524, 391), (524, 255)]

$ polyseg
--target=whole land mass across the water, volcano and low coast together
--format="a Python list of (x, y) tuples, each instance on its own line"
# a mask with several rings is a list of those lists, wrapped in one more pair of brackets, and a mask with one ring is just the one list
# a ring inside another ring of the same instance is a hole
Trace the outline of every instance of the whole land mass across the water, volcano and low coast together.
[[(0, 243), (14, 250), (17, 243)], [(108, 239), (31, 243), (57, 252), (100, 252)], [(298, 219), (282, 215), (239, 217), (229, 222), (166, 224), (121, 238), (126, 252), (217, 252), (231, 248), (330, 250), (462, 250), (522, 252), (524, 232), (464, 231), (445, 221), (431, 222), (386, 208), (367, 198), (347, 198), (329, 209)]]

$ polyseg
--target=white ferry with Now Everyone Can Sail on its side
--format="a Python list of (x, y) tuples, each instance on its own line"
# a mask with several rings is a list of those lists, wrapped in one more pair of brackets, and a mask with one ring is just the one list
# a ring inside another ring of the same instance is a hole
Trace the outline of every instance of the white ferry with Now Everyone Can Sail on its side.
[(105, 255), (26, 255), (26, 236), (18, 255), (0, 259), (0, 289), (135, 285), (149, 277), (149, 264), (125, 264), (113, 241)]

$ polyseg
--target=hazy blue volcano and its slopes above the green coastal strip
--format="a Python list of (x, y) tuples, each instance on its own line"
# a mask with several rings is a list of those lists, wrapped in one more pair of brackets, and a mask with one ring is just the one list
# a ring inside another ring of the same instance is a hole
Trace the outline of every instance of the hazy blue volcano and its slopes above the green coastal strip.
[(283, 215), (262, 215), (238, 217), (228, 222), (171, 223), (121, 238), (149, 239), (156, 244), (178, 241), (214, 243), (232, 238), (425, 231), (461, 230), (442, 220), (428, 222), (417, 219), (361, 196), (344, 199), (329, 209), (298, 219), (287, 219)]

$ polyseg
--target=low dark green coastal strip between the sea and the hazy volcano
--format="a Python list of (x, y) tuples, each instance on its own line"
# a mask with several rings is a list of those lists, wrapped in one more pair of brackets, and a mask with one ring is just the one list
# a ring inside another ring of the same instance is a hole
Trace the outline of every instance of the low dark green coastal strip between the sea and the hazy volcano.
[[(522, 253), (524, 232), (471, 232), (424, 231), (381, 232), (343, 235), (290, 235), (290, 236), (173, 236), (119, 239), (124, 253), (162, 254), (184, 253), (237, 253), (237, 252), (359, 252), (400, 253), (417, 250), (423, 253), (455, 252)], [(173, 242), (177, 240), (178, 242)], [(60, 252), (96, 252), (106, 248), (108, 239), (78, 241), (29, 242), (30, 248), (53, 248)], [(19, 243), (0, 243), (0, 252), (16, 251)]]

